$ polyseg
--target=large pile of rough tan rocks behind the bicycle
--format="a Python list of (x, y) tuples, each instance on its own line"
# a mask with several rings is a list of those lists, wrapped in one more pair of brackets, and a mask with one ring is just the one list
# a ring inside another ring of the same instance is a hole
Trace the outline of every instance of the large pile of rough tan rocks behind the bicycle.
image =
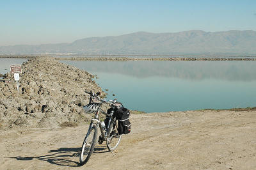
[[(11, 73), (4, 75), (13, 80)], [(51, 58), (29, 59), (22, 64), (20, 92), (15, 81), (0, 82), (0, 127), (58, 127), (61, 123), (81, 123), (88, 104), (86, 91), (102, 89), (93, 75)], [(102, 92), (102, 95), (105, 95)]]

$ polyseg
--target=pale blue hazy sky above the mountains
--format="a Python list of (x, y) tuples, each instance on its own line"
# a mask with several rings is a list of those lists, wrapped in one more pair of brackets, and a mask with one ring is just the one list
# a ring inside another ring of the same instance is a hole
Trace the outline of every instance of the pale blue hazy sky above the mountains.
[(256, 31), (256, 1), (0, 1), (0, 45), (191, 29)]

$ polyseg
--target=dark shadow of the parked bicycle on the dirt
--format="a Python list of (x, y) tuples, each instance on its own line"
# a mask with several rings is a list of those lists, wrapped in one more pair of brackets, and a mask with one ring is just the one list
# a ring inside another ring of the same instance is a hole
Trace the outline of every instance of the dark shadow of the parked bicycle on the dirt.
[[(59, 148), (58, 150), (50, 150), (49, 154), (38, 157), (10, 157), (17, 160), (42, 160), (58, 166), (77, 167), (79, 164), (79, 154), (81, 148)], [(95, 146), (93, 154), (109, 152), (108, 148)], [(77, 161), (75, 161), (77, 160)]]

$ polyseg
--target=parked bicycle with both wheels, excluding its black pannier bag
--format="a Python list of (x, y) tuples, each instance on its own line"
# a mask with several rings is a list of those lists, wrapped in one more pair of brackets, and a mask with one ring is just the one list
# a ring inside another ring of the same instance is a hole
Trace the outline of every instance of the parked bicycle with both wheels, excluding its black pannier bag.
[[(92, 110), (88, 111), (90, 113), (94, 113), (94, 118), (91, 120), (90, 126), (88, 128), (88, 132), (86, 136), (84, 137), (83, 145), (81, 148), (81, 153), (80, 153), (80, 164), (83, 166), (88, 162), (90, 159), (96, 141), (97, 141), (97, 135), (98, 135), (98, 127), (100, 127), (100, 132), (101, 135), (99, 136), (99, 144), (102, 144), (104, 141), (107, 143), (107, 148), (109, 151), (113, 151), (116, 149), (118, 144), (121, 141), (122, 134), (118, 134), (118, 129), (117, 129), (117, 123), (116, 123), (116, 118), (114, 116), (114, 111), (111, 111), (110, 114), (107, 112), (102, 111), (100, 107), (103, 104), (111, 104), (111, 107), (114, 109), (118, 109), (118, 107), (124, 107), (124, 105), (120, 102), (117, 102), (116, 100), (102, 100), (99, 98), (100, 93), (93, 93), (84, 91), (85, 93), (88, 93), (90, 95), (90, 102), (88, 105), (92, 106)], [(94, 103), (93, 99), (99, 100), (100, 103)], [(117, 104), (117, 105), (116, 105)], [(86, 105), (86, 106), (88, 106)], [(90, 107), (91, 108), (91, 107)], [(99, 120), (99, 114), (105, 114), (106, 118), (108, 118), (108, 125), (104, 125), (104, 121)], [(112, 152), (113, 153), (113, 152)]]

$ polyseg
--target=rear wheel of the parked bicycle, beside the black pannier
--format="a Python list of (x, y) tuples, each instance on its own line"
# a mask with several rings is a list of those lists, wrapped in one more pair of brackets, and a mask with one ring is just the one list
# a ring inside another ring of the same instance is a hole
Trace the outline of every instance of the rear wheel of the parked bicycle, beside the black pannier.
[[(108, 141), (107, 141), (107, 147), (109, 151), (113, 151), (116, 149), (116, 147), (118, 146), (118, 144), (120, 143), (121, 139), (122, 139), (122, 135), (119, 135), (117, 132), (117, 129), (115, 129), (114, 127), (114, 123), (110, 123), (109, 125), (109, 129), (108, 129)], [(113, 130), (115, 130), (116, 132), (113, 132)], [(115, 140), (113, 140), (115, 139)]]

